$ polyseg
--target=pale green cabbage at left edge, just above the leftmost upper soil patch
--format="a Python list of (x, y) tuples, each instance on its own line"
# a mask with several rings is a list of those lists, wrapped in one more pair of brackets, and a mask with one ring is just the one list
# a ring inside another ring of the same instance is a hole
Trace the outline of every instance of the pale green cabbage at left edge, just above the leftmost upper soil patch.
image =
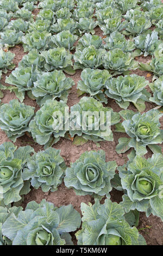
[(8, 47), (14, 47), (22, 42), (23, 32), (17, 32), (12, 29), (5, 29), (4, 32), (0, 33), (0, 44), (7, 45)]

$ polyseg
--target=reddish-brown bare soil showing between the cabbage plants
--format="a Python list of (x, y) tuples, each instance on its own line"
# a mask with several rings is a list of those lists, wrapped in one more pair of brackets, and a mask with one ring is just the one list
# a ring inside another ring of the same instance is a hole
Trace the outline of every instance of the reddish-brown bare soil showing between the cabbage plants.
[[(39, 10), (36, 9), (34, 10), (33, 14), (37, 15), (39, 13)], [(96, 34), (103, 36), (102, 31), (99, 27), (95, 29)], [(12, 47), (9, 49), (11, 52), (15, 53), (15, 58), (14, 58), (14, 63), (16, 66), (24, 56), (24, 51), (22, 45), (17, 45), (15, 47)], [(139, 62), (149, 62), (151, 57), (139, 57), (136, 58), (137, 61)], [(80, 80), (80, 74), (82, 70), (77, 70), (76, 74), (73, 76), (69, 76), (73, 78), (74, 82), (76, 83), (75, 86), (72, 87), (69, 95), (68, 95), (68, 101), (67, 105), (71, 107), (72, 105), (76, 104), (79, 102), (80, 98), (77, 95), (77, 83)], [(11, 71), (8, 71), (7, 74), (3, 74), (2, 76), (2, 81), (1, 83), (4, 84), (5, 86), (8, 86), (5, 81), (5, 77), (9, 76)], [(131, 74), (137, 74), (140, 76), (145, 76), (149, 82), (152, 82), (152, 73), (149, 74), (149, 72), (146, 71), (140, 71), (140, 70), (133, 70), (131, 71)], [(68, 76), (68, 75), (66, 75)], [(147, 90), (151, 92), (150, 88), (147, 86)], [(3, 103), (8, 103), (12, 99), (16, 99), (16, 96), (14, 93), (10, 93), (9, 91), (4, 91), (4, 97), (2, 99)], [(29, 97), (26, 95), (26, 98), (23, 101), (26, 105), (30, 105), (35, 107), (35, 111), (39, 109), (39, 106), (36, 104), (34, 100), (29, 99)], [(115, 100), (110, 99), (108, 104), (105, 105), (108, 107), (111, 107), (114, 112), (119, 112), (121, 111), (121, 108), (116, 104)], [(156, 105), (154, 103), (146, 103), (146, 109), (145, 112), (147, 112), (149, 109), (154, 108)], [(128, 109), (132, 109), (133, 111), (136, 111), (136, 108), (134, 105), (129, 106)], [(160, 119), (161, 122), (161, 129), (163, 129), (163, 118)], [(112, 128), (114, 130), (114, 127)], [(114, 132), (114, 141), (113, 142), (99, 142), (100, 147), (97, 147), (97, 144), (91, 141), (88, 141), (86, 144), (83, 146), (76, 146), (72, 144), (72, 141), (61, 138), (60, 141), (53, 145), (53, 148), (60, 149), (61, 150), (61, 156), (64, 158), (66, 165), (70, 166), (71, 162), (75, 162), (79, 156), (84, 152), (84, 151), (90, 151), (90, 150), (99, 150), (103, 149), (106, 153), (106, 161), (113, 161), (115, 160), (118, 164), (118, 166), (123, 165), (124, 163), (127, 162), (127, 155), (130, 153), (130, 151), (127, 151), (127, 153), (124, 154), (117, 154), (115, 151), (116, 145), (118, 144), (118, 138), (122, 137), (122, 133)], [(123, 137), (128, 137), (127, 135), (123, 135)], [(4, 142), (10, 141), (5, 135), (5, 132), (0, 131), (0, 144)], [(18, 138), (16, 140), (17, 147), (24, 146), (24, 145), (30, 145), (31, 147), (34, 148), (34, 150), (37, 152), (39, 150), (43, 150), (43, 147), (37, 143), (35, 143), (32, 139), (32, 137), (28, 137), (27, 135), (22, 136), (21, 138)], [(162, 147), (162, 153), (163, 153), (163, 145)], [(152, 151), (148, 149), (148, 153), (145, 155), (146, 158), (152, 156)], [(122, 192), (116, 191), (113, 189), (111, 191), (111, 200), (112, 202), (117, 202), (120, 203), (122, 200)], [(24, 202), (22, 203), (22, 206), (25, 208), (27, 203), (35, 200), (37, 203), (40, 203), (41, 200), (45, 198), (49, 202), (54, 203), (56, 206), (61, 206), (61, 205), (68, 205), (72, 204), (74, 206), (74, 209), (80, 212), (80, 204), (82, 202), (84, 203), (93, 203), (94, 200), (91, 196), (76, 196), (74, 193), (73, 189), (67, 189), (64, 185), (64, 182), (59, 186), (58, 191), (55, 192), (42, 192), (41, 189), (35, 190), (34, 188), (31, 189), (31, 191), (24, 197)], [(81, 214), (81, 212), (80, 212)], [(149, 228), (150, 227), (150, 228)], [(163, 222), (159, 217), (156, 216), (149, 216), (148, 218), (146, 217), (145, 213), (140, 214), (140, 224), (138, 229), (140, 230), (140, 233), (145, 237), (147, 244), (148, 245), (163, 245)], [(74, 233), (71, 234), (73, 237), (74, 244), (77, 244), (77, 241), (75, 239)]]

